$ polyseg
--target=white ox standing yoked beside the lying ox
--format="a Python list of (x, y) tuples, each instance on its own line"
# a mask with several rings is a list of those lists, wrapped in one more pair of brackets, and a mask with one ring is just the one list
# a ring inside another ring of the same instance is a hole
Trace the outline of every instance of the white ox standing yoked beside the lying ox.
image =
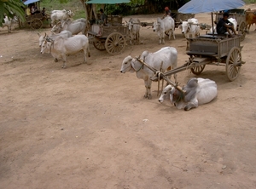
[[(173, 47), (165, 47), (155, 53), (148, 53), (148, 51), (144, 51), (140, 58), (144, 60), (149, 66), (154, 67), (154, 69), (158, 71), (162, 69), (162, 71), (165, 72), (166, 70), (171, 69), (171, 67), (177, 67), (177, 49)], [(161, 62), (163, 62), (162, 67)], [(150, 78), (154, 76), (154, 72), (149, 70), (147, 66), (143, 66), (141, 62), (139, 62), (137, 59), (132, 59), (129, 55), (123, 60), (120, 72), (136, 72), (137, 78), (142, 78), (145, 83), (146, 92), (144, 94), (144, 98), (152, 98), (152, 80)], [(174, 78), (176, 82), (176, 74), (174, 75)]]

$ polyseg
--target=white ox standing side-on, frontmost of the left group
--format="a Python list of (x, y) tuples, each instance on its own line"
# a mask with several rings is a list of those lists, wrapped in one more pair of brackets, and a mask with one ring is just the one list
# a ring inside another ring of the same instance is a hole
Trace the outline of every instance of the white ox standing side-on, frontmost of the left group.
[(87, 62), (87, 55), (90, 57), (89, 39), (84, 35), (73, 37), (56, 37), (55, 40), (46, 38), (42, 45), (41, 54), (50, 52), (55, 59), (63, 61), (62, 68), (66, 68), (66, 56), (84, 51), (84, 63)]

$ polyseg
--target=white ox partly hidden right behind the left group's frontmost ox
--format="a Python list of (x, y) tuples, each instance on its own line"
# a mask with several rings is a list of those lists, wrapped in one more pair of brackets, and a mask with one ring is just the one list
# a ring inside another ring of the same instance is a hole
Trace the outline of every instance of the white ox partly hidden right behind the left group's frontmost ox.
[(59, 33), (61, 31), (67, 30), (72, 32), (73, 35), (78, 34), (79, 32), (82, 32), (85, 34), (87, 27), (87, 20), (86, 19), (78, 19), (78, 20), (61, 20), (58, 22), (53, 28), (51, 29), (51, 32)]

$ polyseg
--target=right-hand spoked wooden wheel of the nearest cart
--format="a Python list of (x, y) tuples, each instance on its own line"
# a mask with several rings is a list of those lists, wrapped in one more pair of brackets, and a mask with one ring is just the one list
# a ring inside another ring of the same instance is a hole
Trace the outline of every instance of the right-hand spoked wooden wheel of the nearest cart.
[(226, 60), (226, 73), (230, 81), (234, 81), (238, 77), (241, 69), (241, 51), (237, 47), (230, 49), (230, 53)]

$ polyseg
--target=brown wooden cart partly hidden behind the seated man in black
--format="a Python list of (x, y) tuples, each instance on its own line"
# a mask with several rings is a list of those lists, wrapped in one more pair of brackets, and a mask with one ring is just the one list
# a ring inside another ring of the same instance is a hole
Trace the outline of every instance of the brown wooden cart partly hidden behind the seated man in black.
[[(215, 22), (217, 23), (223, 17), (223, 13), (215, 13)], [(237, 21), (237, 31), (241, 34), (241, 41), (244, 40), (247, 33), (247, 24), (246, 24), (246, 10), (245, 9), (230, 9), (229, 10), (230, 18), (236, 19)]]

